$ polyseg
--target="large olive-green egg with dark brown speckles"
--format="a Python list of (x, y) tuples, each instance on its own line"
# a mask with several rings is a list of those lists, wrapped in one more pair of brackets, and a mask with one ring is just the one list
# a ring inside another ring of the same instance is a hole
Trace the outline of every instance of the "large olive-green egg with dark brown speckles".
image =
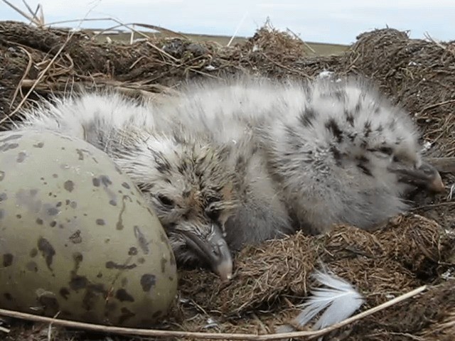
[(50, 131), (0, 133), (0, 307), (147, 328), (177, 291), (163, 227), (104, 152)]

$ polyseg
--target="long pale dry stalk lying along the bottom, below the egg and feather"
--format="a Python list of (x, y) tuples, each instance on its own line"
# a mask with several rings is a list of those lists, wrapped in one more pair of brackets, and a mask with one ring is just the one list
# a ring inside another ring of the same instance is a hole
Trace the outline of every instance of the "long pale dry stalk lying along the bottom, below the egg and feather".
[(326, 335), (328, 332), (342, 328), (350, 323), (357, 320), (377, 313), (380, 310), (389, 308), (392, 305), (407, 300), (413, 296), (422, 293), (427, 290), (427, 286), (420, 286), (404, 295), (398, 296), (390, 301), (382, 303), (374, 308), (363, 311), (351, 318), (343, 320), (341, 323), (336, 323), (330, 327), (323, 328), (321, 330), (314, 331), (302, 331), (302, 332), (286, 332), (281, 334), (269, 334), (269, 335), (252, 335), (252, 334), (231, 334), (231, 333), (215, 333), (215, 332), (185, 332), (176, 330), (148, 330), (148, 329), (136, 329), (136, 328), (122, 328), (122, 327), (110, 327), (107, 325), (95, 325), (90, 323), (81, 323), (70, 320), (59, 320), (56, 318), (46, 318), (44, 316), (32, 315), (28, 313), (19, 313), (12, 310), (0, 309), (0, 315), (9, 316), (10, 318), (20, 318), (23, 320), (31, 320), (41, 323), (53, 323), (53, 325), (59, 325), (67, 328), (79, 328), (83, 330), (91, 330), (94, 332), (107, 332), (118, 335), (136, 335), (136, 336), (148, 336), (148, 337), (193, 337), (199, 339), (214, 339), (214, 340), (251, 340), (251, 341), (262, 341), (262, 340), (280, 340), (294, 337), (308, 337), (308, 340), (314, 339), (315, 337), (321, 337)]

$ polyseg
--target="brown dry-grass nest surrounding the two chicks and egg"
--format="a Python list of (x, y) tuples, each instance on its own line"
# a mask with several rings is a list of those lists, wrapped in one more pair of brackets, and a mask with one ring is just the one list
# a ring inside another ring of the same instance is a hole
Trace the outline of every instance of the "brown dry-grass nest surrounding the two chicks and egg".
[[(305, 43), (269, 26), (244, 44), (223, 47), (181, 36), (125, 45), (97, 43), (86, 33), (0, 23), (0, 129), (39, 97), (77, 87), (114, 87), (132, 96), (172, 93), (183, 80), (237, 73), (269, 77), (370, 77), (417, 120), (432, 156), (454, 156), (455, 43), (412, 40), (394, 29), (358, 36), (341, 55), (312, 55)], [(454, 183), (444, 174), (445, 183)], [(427, 291), (357, 320), (334, 340), (452, 340), (455, 293), (451, 196), (416, 197), (413, 212), (377, 232), (339, 226), (318, 237), (297, 233), (246, 247), (235, 274), (221, 283), (204, 269), (179, 271), (179, 300), (167, 330), (267, 334), (299, 313), (321, 264), (358, 287), (361, 309), (427, 284)], [(105, 335), (53, 327), (53, 340), (104, 340)], [(113, 337), (114, 338), (114, 337)], [(48, 326), (13, 322), (4, 340), (48, 340)], [(115, 339), (117, 340), (117, 339)], [(144, 340), (118, 337), (118, 340)]]

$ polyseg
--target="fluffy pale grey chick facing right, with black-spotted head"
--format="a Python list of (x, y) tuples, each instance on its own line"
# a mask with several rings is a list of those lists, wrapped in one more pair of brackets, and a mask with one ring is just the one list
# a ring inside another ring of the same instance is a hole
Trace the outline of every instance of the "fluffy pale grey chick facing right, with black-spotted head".
[(208, 131), (235, 149), (247, 190), (227, 229), (237, 244), (341, 223), (373, 229), (407, 210), (413, 184), (441, 189), (409, 115), (363, 80), (204, 82), (160, 110), (168, 129)]

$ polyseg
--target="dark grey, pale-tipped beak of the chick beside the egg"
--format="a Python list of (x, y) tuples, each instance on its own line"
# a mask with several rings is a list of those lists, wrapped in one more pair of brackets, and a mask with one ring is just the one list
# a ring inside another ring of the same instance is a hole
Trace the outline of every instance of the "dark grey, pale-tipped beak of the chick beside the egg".
[(222, 281), (232, 277), (232, 256), (228, 244), (223, 237), (223, 232), (217, 224), (212, 224), (210, 233), (205, 238), (188, 232), (185, 234), (188, 246), (208, 262), (215, 274)]

